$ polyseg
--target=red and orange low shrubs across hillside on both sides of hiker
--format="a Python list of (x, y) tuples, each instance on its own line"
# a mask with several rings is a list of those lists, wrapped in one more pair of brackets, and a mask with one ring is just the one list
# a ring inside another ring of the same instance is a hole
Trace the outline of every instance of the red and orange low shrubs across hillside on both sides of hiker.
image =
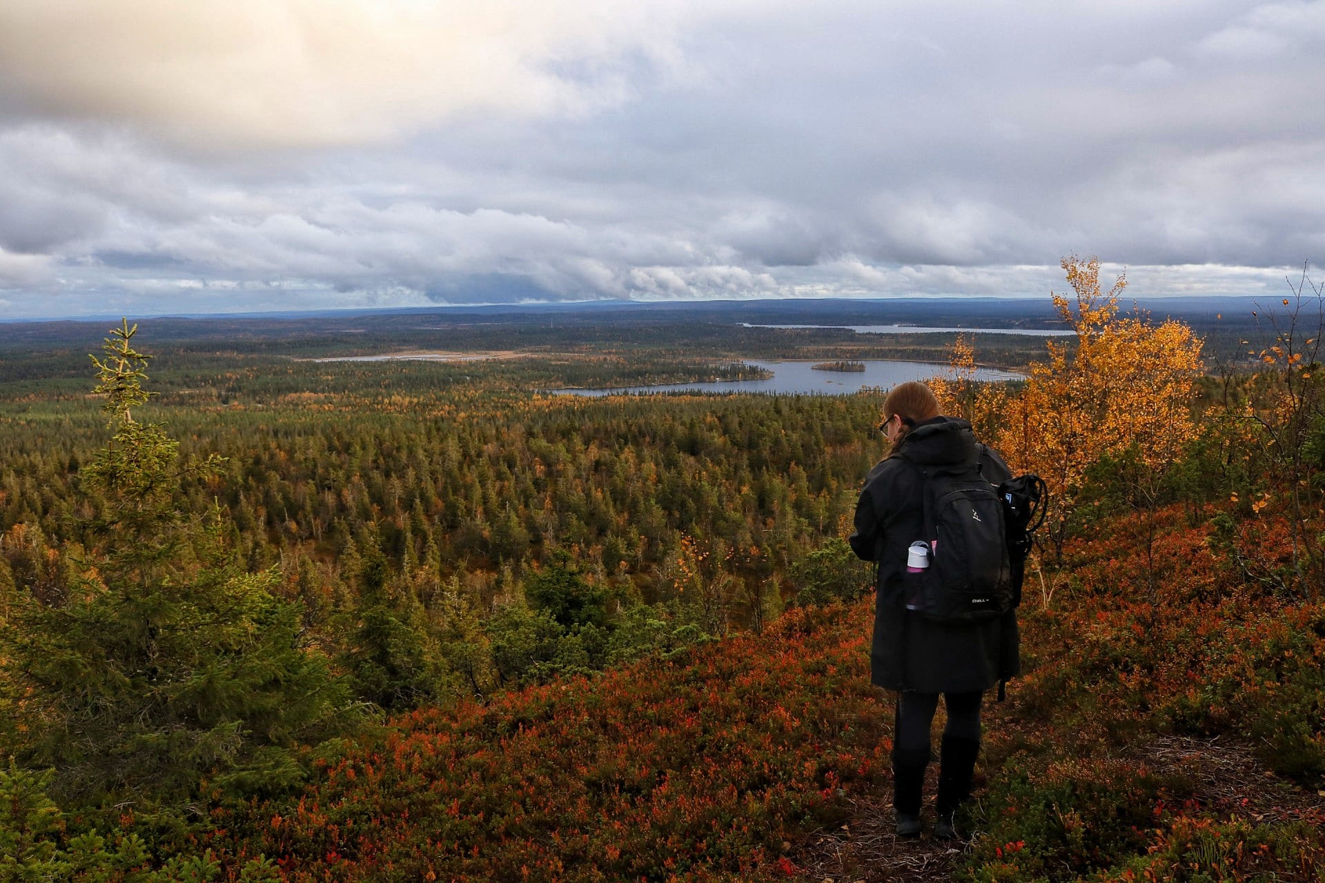
[[(1291, 784), (1325, 773), (1309, 732), (1325, 691), (1325, 605), (1247, 586), (1211, 551), (1212, 528), (1178, 508), (1162, 519), (1158, 604), (1141, 597), (1151, 564), (1124, 520), (1105, 541), (1069, 544), (1077, 586), (1028, 605), (1032, 674), (987, 727), (988, 790), (971, 810), (984, 837), (962, 875), (1325, 871), (1325, 801)], [(796, 610), (762, 637), (401, 718), (325, 770), (303, 794), (315, 809), (246, 808), (223, 842), (260, 843), (309, 880), (388, 867), (440, 879), (796, 875), (816, 860), (806, 831), (849, 847), (840, 826), (859, 821), (853, 804), (886, 789), (890, 710), (867, 686), (871, 617), (868, 600)], [(1247, 763), (1240, 744), (1259, 747), (1251, 776), (1224, 767)], [(835, 872), (872, 878), (867, 858)]]

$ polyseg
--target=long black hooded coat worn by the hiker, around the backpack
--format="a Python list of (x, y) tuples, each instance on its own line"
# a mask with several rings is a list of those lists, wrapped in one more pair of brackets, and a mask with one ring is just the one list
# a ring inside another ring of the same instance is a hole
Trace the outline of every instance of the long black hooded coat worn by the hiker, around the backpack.
[(975, 461), (995, 485), (1010, 477), (1003, 458), (977, 443), (969, 422), (934, 417), (913, 428), (865, 479), (851, 548), (867, 561), (878, 563), (871, 651), (871, 678), (876, 686), (974, 692), (1020, 674), (1015, 610), (974, 625), (939, 625), (902, 606), (906, 549), (924, 539), (925, 479), (913, 463)]

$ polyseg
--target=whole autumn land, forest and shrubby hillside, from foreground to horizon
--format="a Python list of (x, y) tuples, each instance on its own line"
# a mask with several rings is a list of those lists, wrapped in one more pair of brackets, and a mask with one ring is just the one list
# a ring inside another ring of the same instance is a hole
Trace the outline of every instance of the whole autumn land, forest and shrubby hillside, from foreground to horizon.
[[(1325, 293), (1063, 269), (0, 326), (0, 882), (1325, 880)], [(888, 389), (575, 395), (779, 359), (937, 363), (1049, 488), (951, 845), (845, 540)]]

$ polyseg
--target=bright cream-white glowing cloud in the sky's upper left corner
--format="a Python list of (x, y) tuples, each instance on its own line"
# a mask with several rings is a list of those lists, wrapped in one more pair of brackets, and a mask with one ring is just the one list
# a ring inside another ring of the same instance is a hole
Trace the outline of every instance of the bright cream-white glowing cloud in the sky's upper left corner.
[(620, 102), (629, 53), (682, 70), (670, 34), (685, 7), (5, 0), (0, 78), (20, 109), (127, 120), (199, 150), (382, 142), (465, 113)]

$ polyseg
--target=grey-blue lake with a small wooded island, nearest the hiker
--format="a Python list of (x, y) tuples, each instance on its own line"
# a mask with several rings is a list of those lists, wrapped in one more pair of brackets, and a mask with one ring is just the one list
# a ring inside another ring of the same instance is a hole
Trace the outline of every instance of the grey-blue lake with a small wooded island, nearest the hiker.
[[(718, 380), (713, 383), (656, 384), (651, 387), (619, 387), (615, 389), (549, 389), (551, 393), (571, 396), (616, 396), (621, 393), (662, 392), (759, 392), (759, 393), (818, 393), (844, 396), (860, 392), (861, 387), (889, 389), (908, 380), (926, 380), (942, 375), (947, 365), (929, 361), (893, 361), (889, 359), (853, 360), (865, 365), (863, 372), (815, 371), (815, 361), (754, 361), (745, 363), (767, 368), (767, 380)], [(1020, 380), (1023, 375), (996, 368), (977, 368), (977, 380)]]

